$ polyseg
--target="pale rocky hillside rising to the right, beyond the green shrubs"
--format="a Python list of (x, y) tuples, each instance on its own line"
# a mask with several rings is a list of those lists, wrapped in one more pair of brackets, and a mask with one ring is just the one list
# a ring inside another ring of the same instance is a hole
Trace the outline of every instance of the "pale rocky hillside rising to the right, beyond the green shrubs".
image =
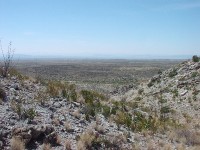
[[(200, 146), (199, 62), (185, 61), (159, 72), (149, 81), (140, 83), (138, 88), (129, 90), (124, 95), (114, 95), (112, 99), (123, 100), (129, 104), (134, 103), (134, 110), (142, 113), (144, 117), (153, 117), (157, 121), (164, 120), (163, 128), (162, 123), (155, 126), (156, 134), (162, 137), (159, 139), (161, 143), (166, 144), (166, 141), (170, 141), (167, 143), (170, 149), (179, 147), (180, 149), (200, 149), (198, 147)], [(150, 141), (154, 145), (153, 148), (160, 147), (155, 140)], [(142, 147), (141, 142), (138, 145)]]

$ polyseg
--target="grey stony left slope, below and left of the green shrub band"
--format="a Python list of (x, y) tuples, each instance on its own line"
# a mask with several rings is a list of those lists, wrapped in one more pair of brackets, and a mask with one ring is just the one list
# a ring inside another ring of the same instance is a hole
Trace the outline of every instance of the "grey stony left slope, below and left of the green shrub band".
[[(85, 149), (93, 136), (101, 134), (113, 141), (122, 136), (115, 123), (109, 123), (101, 114), (85, 119), (84, 105), (63, 97), (44, 96), (46, 103), (41, 104), (38, 95), (45, 87), (28, 80), (1, 78), (1, 87), (6, 92), (0, 105), (0, 148), (13, 147), (12, 138), (20, 139), (27, 149), (45, 149), (50, 143), (53, 149)], [(89, 137), (87, 137), (87, 135)], [(87, 139), (89, 138), (89, 139)], [(123, 141), (119, 141), (123, 144)], [(118, 145), (118, 143), (116, 144)], [(124, 143), (123, 147), (130, 147)], [(115, 146), (115, 145), (114, 145)], [(102, 147), (103, 148), (103, 147)], [(14, 149), (14, 148), (13, 148)]]

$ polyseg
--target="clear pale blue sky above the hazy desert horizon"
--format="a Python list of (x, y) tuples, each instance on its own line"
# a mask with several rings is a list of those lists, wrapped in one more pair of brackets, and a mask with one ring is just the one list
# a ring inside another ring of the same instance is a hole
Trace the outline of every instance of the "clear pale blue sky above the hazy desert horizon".
[(200, 55), (200, 0), (0, 0), (0, 40), (32, 56)]

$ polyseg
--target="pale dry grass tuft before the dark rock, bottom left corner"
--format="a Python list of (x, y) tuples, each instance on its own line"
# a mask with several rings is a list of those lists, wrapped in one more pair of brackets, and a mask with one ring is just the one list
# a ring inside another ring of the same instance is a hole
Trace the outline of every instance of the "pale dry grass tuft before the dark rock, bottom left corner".
[(17, 137), (13, 137), (11, 139), (11, 150), (25, 150), (24, 142)]

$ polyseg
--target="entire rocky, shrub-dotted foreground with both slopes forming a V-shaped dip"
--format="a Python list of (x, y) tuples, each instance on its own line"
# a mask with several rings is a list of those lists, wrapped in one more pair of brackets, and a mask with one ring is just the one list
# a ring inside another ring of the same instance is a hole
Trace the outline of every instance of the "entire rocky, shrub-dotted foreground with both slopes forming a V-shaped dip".
[(111, 97), (16, 72), (0, 84), (3, 150), (200, 149), (199, 62)]

